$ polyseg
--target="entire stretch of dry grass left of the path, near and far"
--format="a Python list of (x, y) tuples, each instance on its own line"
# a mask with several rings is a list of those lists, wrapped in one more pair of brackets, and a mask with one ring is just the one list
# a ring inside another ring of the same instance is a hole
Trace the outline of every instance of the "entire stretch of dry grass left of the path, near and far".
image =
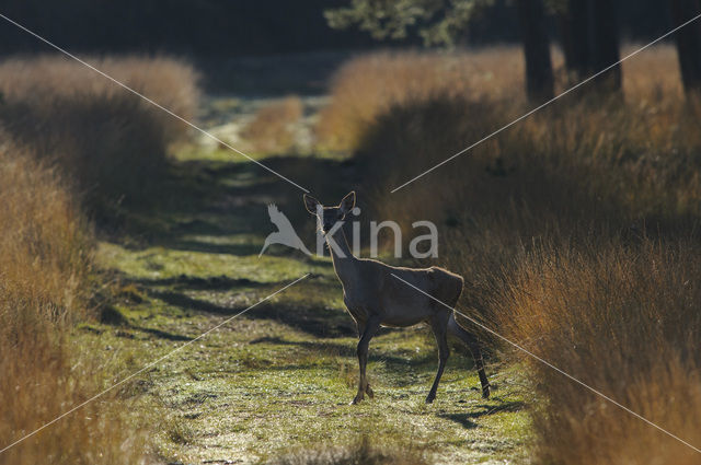
[[(165, 58), (89, 59), (191, 118), (196, 75)], [(56, 56), (0, 63), (0, 437), (2, 447), (111, 382), (79, 347), (89, 318), (94, 218), (143, 202), (182, 124), (81, 65)], [(0, 454), (7, 464), (133, 464), (145, 441), (108, 394)]]

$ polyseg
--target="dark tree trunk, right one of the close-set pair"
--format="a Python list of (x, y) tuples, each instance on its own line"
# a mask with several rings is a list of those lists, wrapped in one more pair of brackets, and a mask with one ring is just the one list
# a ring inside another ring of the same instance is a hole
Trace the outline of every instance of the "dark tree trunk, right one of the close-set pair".
[(610, 93), (621, 90), (621, 59), (613, 4), (609, 0), (591, 0), (591, 72), (613, 68), (595, 80), (598, 90)]

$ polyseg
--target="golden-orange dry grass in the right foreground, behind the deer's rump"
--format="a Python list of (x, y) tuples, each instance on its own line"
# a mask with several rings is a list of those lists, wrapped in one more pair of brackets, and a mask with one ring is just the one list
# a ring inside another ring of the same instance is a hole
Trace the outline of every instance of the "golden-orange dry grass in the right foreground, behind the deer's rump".
[[(499, 304), (514, 340), (582, 382), (701, 444), (698, 244), (538, 251)], [(566, 464), (693, 464), (699, 454), (522, 356), (537, 392), (539, 456)]]

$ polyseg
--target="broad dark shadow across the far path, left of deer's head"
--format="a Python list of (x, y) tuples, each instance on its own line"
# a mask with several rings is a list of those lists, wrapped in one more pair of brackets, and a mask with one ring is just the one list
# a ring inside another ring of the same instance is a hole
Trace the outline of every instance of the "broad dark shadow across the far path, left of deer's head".
[[(358, 187), (352, 161), (275, 155), (262, 162), (323, 199), (341, 198)], [(265, 211), (269, 202), (280, 207), (294, 224), (303, 224), (311, 232), (314, 228), (302, 206), (302, 190), (253, 163), (173, 162), (160, 194), (142, 208), (124, 211), (126, 221), (119, 234), (131, 237), (135, 248), (257, 254), (253, 245), (211, 244), (186, 236), (264, 234), (272, 228)]]

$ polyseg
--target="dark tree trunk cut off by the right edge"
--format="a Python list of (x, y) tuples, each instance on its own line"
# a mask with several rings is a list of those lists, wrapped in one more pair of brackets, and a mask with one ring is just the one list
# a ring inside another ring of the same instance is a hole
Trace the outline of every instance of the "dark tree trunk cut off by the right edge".
[[(675, 25), (683, 24), (701, 13), (699, 0), (671, 0), (670, 5)], [(687, 94), (701, 93), (701, 22), (699, 21), (675, 33), (681, 81)]]

